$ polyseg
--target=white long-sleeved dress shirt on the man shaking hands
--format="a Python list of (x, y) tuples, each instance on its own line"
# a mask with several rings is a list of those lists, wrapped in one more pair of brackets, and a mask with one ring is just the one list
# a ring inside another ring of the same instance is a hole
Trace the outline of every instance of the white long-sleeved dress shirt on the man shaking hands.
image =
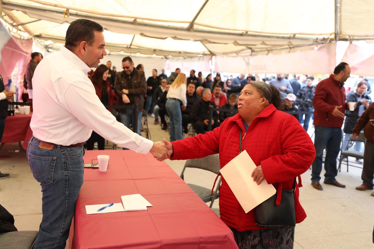
[(153, 142), (117, 122), (105, 109), (87, 77), (90, 70), (64, 46), (39, 63), (32, 80), (33, 135), (67, 146), (87, 141), (94, 130), (119, 146), (148, 153)]

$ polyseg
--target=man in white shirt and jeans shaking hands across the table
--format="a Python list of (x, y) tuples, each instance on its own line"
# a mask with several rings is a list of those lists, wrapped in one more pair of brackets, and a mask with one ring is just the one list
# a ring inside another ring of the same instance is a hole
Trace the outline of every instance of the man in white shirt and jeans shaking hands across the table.
[(153, 143), (126, 128), (102, 105), (87, 77), (105, 52), (103, 27), (78, 19), (66, 32), (65, 46), (42, 60), (33, 77), (33, 130), (27, 157), (42, 186), (43, 218), (34, 246), (65, 248), (83, 184), (83, 144), (100, 136), (139, 153), (168, 158), (162, 142)]

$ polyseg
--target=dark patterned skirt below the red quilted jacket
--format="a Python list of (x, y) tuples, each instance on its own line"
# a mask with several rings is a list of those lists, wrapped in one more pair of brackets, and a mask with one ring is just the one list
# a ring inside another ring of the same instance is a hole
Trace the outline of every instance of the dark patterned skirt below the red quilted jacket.
[(231, 228), (239, 249), (293, 249), (295, 228), (237, 231)]

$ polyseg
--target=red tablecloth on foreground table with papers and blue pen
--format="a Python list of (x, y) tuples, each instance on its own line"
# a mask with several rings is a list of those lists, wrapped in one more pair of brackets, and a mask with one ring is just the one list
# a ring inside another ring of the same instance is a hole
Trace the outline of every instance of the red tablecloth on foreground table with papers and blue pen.
[[(84, 161), (91, 164), (101, 154), (110, 156), (109, 168), (85, 169), (74, 248), (237, 248), (231, 230), (165, 162), (129, 150), (86, 151)], [(86, 214), (85, 205), (118, 203), (122, 195), (137, 193), (153, 206)]]

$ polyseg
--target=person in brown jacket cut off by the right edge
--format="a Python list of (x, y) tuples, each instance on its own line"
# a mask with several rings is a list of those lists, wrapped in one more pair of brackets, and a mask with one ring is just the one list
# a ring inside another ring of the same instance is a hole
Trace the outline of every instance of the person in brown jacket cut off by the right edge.
[[(365, 151), (364, 167), (362, 169), (362, 185), (356, 187), (357, 190), (373, 190), (374, 178), (374, 103), (371, 104), (356, 123), (353, 128), (353, 138), (358, 138), (360, 131), (364, 128)], [(374, 196), (374, 192), (371, 193)]]

